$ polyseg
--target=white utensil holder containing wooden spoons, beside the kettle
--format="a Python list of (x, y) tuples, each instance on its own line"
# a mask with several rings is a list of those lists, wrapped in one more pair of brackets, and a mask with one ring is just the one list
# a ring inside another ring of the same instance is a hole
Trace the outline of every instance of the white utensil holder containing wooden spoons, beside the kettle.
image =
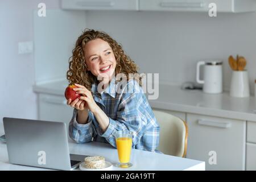
[(232, 97), (250, 97), (248, 72), (233, 71), (230, 83), (230, 96)]

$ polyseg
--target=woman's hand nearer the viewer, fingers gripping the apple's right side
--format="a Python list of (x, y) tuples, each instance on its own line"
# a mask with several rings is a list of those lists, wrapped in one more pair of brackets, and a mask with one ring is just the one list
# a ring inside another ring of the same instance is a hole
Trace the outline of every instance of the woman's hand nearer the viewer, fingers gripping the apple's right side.
[(76, 109), (79, 110), (89, 109), (93, 113), (98, 105), (94, 101), (92, 93), (90, 93), (90, 91), (86, 89), (83, 85), (75, 85), (77, 86), (77, 88), (73, 88), (73, 90), (75, 90), (77, 94), (81, 94), (82, 96), (76, 98), (76, 100), (71, 103), (68, 102), (67, 104), (70, 104), (72, 107), (76, 107)]

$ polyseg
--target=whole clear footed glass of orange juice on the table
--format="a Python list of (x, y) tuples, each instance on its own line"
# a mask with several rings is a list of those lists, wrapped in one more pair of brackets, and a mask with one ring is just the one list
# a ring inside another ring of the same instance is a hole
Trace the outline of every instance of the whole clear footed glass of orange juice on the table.
[(127, 168), (133, 166), (133, 164), (130, 163), (132, 141), (133, 132), (131, 131), (117, 131), (115, 133), (115, 143), (117, 144), (119, 159), (117, 167)]

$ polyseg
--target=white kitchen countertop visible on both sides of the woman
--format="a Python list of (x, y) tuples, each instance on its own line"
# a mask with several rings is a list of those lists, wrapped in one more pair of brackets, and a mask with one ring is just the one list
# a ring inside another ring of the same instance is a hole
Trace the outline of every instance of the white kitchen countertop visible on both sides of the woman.
[[(49, 82), (35, 85), (34, 91), (64, 96), (67, 85), (65, 80)], [(179, 85), (159, 84), (158, 99), (148, 101), (151, 107), (158, 109), (256, 122), (255, 97), (236, 98), (230, 97), (228, 92), (207, 94), (202, 90), (181, 90)]]

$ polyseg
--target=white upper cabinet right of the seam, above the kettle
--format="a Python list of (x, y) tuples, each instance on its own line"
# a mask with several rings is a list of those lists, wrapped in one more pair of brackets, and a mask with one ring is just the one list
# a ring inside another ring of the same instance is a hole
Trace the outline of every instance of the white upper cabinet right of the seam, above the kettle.
[(255, 11), (255, 0), (139, 0), (140, 10), (151, 11), (209, 11), (212, 4), (217, 12)]

